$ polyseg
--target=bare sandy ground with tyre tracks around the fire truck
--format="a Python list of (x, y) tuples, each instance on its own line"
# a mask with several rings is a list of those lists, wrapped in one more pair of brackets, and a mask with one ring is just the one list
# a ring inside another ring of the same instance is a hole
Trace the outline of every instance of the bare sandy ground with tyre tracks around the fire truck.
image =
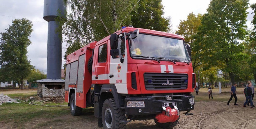
[[(203, 91), (203, 90), (202, 90)], [(208, 99), (206, 92), (199, 92), (199, 96), (206, 97)], [(213, 97), (229, 97), (229, 93), (217, 94), (214, 93)], [(227, 100), (215, 101), (214, 99), (209, 99), (207, 101), (197, 101), (195, 104), (195, 109), (190, 113), (194, 115), (185, 116), (180, 112), (179, 124), (177, 124), (174, 129), (253, 129), (256, 128), (256, 108), (252, 109), (250, 107), (242, 107), (245, 101), (243, 94), (239, 93), (238, 104), (234, 105), (234, 99), (230, 102), (230, 106), (227, 106)], [(198, 97), (198, 96), (196, 96)], [(255, 103), (255, 100), (254, 100)], [(51, 121), (55, 124), (51, 124)], [(1, 123), (1, 122), (0, 122)], [(3, 129), (15, 128), (13, 123), (2, 123)], [(86, 128), (86, 129), (98, 129), (98, 119), (93, 116), (93, 112), (84, 113), (81, 116), (72, 116), (71, 114), (66, 114), (62, 117), (56, 117), (53, 119), (42, 119), (36, 118), (33, 121), (26, 123), (24, 128), (33, 129), (38, 128), (52, 128), (52, 129), (76, 129), (76, 128)], [(42, 126), (43, 125), (43, 126)], [(127, 129), (160, 129), (156, 126), (153, 120), (147, 121), (135, 121), (127, 124)]]

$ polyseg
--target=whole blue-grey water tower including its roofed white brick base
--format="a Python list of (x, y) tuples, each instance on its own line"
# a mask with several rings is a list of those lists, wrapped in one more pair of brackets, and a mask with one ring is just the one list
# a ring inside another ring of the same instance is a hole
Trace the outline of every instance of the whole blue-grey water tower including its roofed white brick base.
[[(59, 27), (56, 17), (66, 19), (66, 5), (63, 0), (44, 0), (44, 20), (48, 21), (47, 34), (47, 77), (46, 79), (37, 80), (38, 95), (63, 96), (64, 82), (61, 79), (62, 67), (62, 41), (60, 33), (56, 32)], [(49, 94), (49, 92), (51, 92)]]

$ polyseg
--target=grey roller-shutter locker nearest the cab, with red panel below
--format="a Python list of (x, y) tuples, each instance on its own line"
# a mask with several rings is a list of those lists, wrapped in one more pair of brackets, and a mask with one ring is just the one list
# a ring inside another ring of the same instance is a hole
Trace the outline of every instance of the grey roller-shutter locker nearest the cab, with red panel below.
[(77, 75), (77, 94), (76, 94), (76, 106), (86, 108), (86, 93), (83, 93), (83, 79), (84, 79), (84, 67), (85, 67), (85, 54), (79, 56), (78, 63), (78, 75)]

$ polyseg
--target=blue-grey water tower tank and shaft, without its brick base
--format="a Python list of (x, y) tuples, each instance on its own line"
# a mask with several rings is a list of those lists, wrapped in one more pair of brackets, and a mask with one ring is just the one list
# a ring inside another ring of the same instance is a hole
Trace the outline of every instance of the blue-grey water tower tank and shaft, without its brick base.
[(47, 35), (47, 79), (61, 79), (62, 42), (55, 18), (66, 18), (66, 5), (63, 0), (44, 0), (44, 20), (48, 21)]

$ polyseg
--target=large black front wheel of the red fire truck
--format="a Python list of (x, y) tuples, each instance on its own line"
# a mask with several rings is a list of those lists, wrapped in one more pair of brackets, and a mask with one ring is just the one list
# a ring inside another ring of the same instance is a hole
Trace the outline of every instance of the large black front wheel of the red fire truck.
[(119, 121), (126, 121), (125, 111), (116, 108), (114, 98), (106, 99), (102, 106), (102, 124), (104, 129), (125, 129), (126, 124)]

